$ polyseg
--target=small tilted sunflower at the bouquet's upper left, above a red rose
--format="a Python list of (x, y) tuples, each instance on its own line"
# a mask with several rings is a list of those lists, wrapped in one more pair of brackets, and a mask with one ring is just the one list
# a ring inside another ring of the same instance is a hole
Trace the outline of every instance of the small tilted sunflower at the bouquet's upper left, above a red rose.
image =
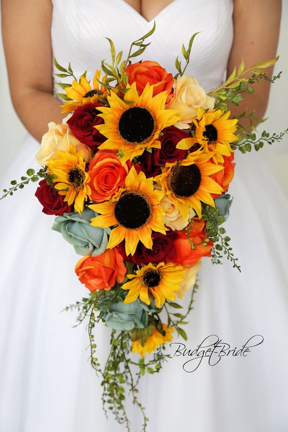
[[(64, 105), (61, 105), (61, 112), (75, 111), (77, 108), (88, 103), (97, 104), (99, 102), (99, 96), (102, 99), (106, 99), (108, 93), (106, 88), (103, 85), (99, 88), (98, 80), (100, 79), (100, 74), (101, 70), (96, 70), (93, 78), (93, 88), (84, 75), (81, 75), (80, 83), (75, 80), (71, 87), (65, 87), (67, 97), (71, 99), (71, 101), (67, 101)], [(105, 78), (106, 77), (103, 78), (104, 81)]]

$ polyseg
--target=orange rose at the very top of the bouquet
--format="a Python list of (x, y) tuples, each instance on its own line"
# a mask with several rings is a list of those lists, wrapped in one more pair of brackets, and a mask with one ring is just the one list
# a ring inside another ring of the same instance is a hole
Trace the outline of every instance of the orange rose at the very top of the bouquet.
[(156, 61), (143, 61), (142, 63), (130, 64), (125, 72), (129, 77), (129, 84), (136, 83), (139, 94), (145, 89), (147, 83), (153, 85), (153, 96), (162, 91), (167, 91), (169, 100), (172, 97), (172, 86), (174, 79), (172, 74), (167, 74), (166, 69)]

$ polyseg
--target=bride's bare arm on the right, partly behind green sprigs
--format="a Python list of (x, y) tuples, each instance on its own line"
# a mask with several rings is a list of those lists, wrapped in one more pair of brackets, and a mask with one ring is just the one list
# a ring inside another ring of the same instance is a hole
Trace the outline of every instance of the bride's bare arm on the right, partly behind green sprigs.
[[(243, 57), (246, 68), (257, 60), (265, 61), (276, 57), (279, 25), (281, 18), (281, 0), (234, 0), (233, 23), (234, 40), (229, 57), (227, 76), (234, 66), (239, 66)], [(277, 63), (276, 63), (277, 67)], [(271, 76), (273, 68), (265, 69)], [(254, 93), (245, 93), (244, 100), (238, 107), (231, 105), (233, 115), (241, 114), (246, 107), (255, 116), (262, 118), (265, 114), (270, 83), (261, 80), (254, 84)], [(241, 121), (249, 128), (249, 121)]]

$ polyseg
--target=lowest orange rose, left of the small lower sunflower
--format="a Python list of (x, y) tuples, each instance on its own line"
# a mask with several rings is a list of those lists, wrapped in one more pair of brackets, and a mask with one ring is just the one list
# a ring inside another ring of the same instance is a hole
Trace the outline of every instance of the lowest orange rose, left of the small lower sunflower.
[(92, 293), (95, 290), (110, 291), (115, 281), (123, 282), (126, 275), (123, 257), (117, 249), (106, 249), (97, 256), (84, 256), (75, 267), (81, 283)]

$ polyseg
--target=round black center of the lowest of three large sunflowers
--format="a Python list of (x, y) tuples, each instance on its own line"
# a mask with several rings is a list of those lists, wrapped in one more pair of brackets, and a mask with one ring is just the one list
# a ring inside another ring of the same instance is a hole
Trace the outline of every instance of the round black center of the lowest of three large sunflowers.
[(150, 199), (137, 190), (125, 191), (114, 207), (114, 215), (120, 225), (128, 229), (138, 229), (150, 219), (152, 210)]

